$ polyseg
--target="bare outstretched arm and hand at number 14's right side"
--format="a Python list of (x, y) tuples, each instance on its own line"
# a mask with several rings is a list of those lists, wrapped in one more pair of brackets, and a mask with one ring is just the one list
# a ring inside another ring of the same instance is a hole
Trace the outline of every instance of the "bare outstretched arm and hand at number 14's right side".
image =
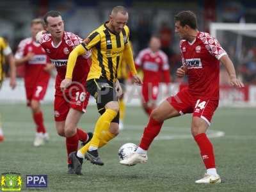
[(233, 62), (230, 60), (230, 58), (227, 55), (224, 55), (220, 58), (221, 63), (223, 63), (223, 65), (225, 66), (228, 75), (230, 77), (230, 84), (232, 86), (236, 86), (236, 87), (244, 87), (244, 84), (242, 81), (240, 81), (239, 79), (237, 79), (236, 77), (236, 70), (234, 68), (234, 64)]

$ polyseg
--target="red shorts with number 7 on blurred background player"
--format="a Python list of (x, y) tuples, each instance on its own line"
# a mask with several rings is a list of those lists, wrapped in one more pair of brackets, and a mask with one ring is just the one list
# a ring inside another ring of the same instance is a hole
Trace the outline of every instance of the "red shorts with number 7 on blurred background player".
[(38, 83), (34, 87), (25, 87), (27, 106), (31, 105), (31, 100), (43, 100), (47, 91), (48, 81), (45, 83)]

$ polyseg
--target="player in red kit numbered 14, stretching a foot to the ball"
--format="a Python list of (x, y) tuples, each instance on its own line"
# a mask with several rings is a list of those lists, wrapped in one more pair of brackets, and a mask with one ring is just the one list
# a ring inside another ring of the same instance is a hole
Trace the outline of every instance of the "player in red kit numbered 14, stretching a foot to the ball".
[(188, 76), (188, 88), (164, 100), (152, 111), (138, 149), (120, 163), (146, 163), (148, 147), (159, 134), (164, 120), (192, 113), (191, 134), (200, 149), (206, 168), (204, 177), (195, 182), (217, 184), (221, 179), (216, 171), (214, 148), (205, 132), (218, 107), (220, 61), (228, 72), (232, 86), (241, 88), (244, 84), (237, 79), (234, 65), (218, 40), (209, 33), (198, 31), (195, 13), (183, 11), (175, 15), (175, 32), (181, 39), (180, 52), (183, 63), (182, 67), (177, 69), (177, 76)]

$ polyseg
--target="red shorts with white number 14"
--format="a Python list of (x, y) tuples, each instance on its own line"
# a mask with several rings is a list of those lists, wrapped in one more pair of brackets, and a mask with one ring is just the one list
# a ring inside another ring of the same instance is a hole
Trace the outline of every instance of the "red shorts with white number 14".
[(204, 99), (204, 97), (191, 97), (188, 88), (181, 90), (177, 95), (169, 97), (167, 101), (179, 111), (180, 115), (193, 113), (211, 125), (214, 111), (218, 108), (219, 100)]

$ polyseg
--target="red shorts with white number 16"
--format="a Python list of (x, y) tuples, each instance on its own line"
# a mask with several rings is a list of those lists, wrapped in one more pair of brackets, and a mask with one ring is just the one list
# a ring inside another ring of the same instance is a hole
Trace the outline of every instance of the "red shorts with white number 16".
[(77, 86), (76, 89), (69, 92), (67, 90), (62, 95), (55, 94), (54, 99), (54, 118), (56, 122), (66, 120), (70, 108), (77, 111), (86, 111), (90, 93), (84, 88)]

